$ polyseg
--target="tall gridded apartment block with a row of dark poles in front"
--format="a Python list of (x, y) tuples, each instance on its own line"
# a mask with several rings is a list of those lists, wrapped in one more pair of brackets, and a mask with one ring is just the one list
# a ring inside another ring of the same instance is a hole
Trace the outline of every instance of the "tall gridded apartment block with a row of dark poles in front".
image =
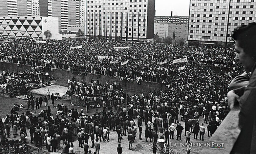
[(86, 36), (154, 37), (155, 0), (86, 0)]

